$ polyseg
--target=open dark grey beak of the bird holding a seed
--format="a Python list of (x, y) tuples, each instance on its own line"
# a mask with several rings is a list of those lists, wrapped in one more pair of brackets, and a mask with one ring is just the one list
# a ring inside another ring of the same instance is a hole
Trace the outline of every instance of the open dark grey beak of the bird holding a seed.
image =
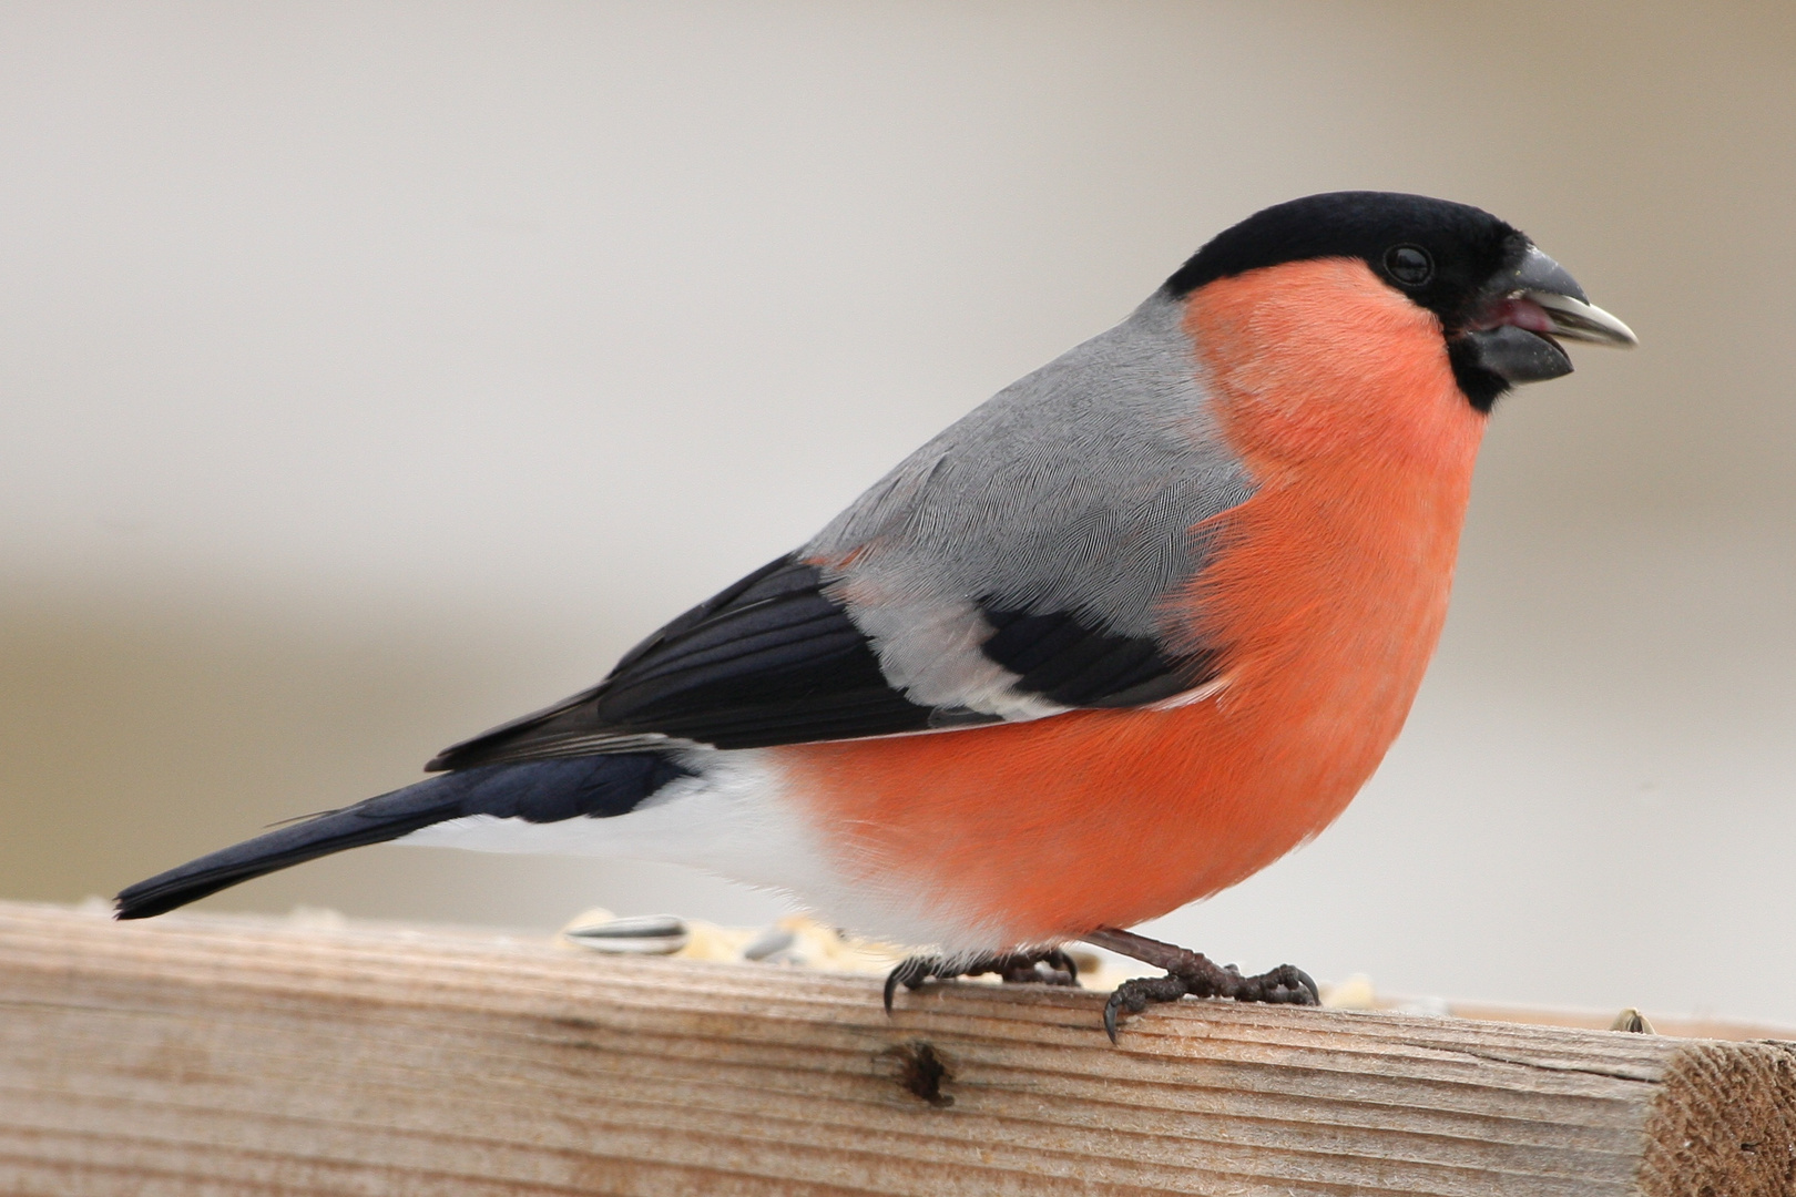
[(1521, 262), (1491, 282), (1489, 300), (1460, 334), (1473, 364), (1510, 382), (1572, 373), (1559, 341), (1633, 348), (1633, 328), (1586, 298), (1550, 257), (1528, 246)]

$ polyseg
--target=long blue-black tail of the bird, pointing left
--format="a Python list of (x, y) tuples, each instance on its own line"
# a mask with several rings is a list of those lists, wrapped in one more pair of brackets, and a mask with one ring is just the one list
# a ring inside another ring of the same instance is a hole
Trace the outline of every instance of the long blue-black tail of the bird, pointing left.
[(119, 894), (119, 917), (160, 915), (264, 872), (348, 847), (397, 840), (447, 818), (496, 815), (553, 824), (564, 818), (627, 815), (661, 786), (690, 775), (656, 752), (485, 765), (442, 773), (138, 881)]

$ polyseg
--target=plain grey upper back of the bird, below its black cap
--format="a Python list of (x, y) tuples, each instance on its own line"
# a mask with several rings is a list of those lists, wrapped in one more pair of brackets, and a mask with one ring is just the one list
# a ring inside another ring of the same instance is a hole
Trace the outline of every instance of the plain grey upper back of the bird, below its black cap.
[(889, 628), (867, 607), (972, 601), (1070, 612), (1117, 635), (1158, 633), (1158, 601), (1203, 558), (1193, 528), (1254, 494), (1218, 436), (1182, 314), (1180, 301), (1155, 294), (1004, 388), (801, 556), (860, 549), (832, 572), (876, 639)]

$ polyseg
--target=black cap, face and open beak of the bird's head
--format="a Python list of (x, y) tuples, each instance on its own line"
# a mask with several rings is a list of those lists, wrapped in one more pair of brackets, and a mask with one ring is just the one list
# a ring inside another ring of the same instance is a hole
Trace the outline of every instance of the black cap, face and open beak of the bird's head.
[(1516, 382), (1572, 373), (1559, 341), (1636, 343), (1514, 226), (1469, 205), (1394, 192), (1329, 192), (1257, 212), (1198, 249), (1164, 291), (1185, 298), (1219, 278), (1320, 258), (1360, 260), (1433, 312), (1478, 411)]

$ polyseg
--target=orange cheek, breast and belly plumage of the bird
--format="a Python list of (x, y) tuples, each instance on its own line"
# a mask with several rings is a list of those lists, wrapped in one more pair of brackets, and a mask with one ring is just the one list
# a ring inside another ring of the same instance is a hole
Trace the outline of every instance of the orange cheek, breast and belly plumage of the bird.
[(1446, 617), (1483, 416), (1435, 318), (1360, 262), (1194, 293), (1185, 327), (1259, 490), (1167, 625), (1225, 686), (936, 736), (779, 748), (839, 867), (991, 946), (1130, 926), (1325, 827), (1390, 747)]

